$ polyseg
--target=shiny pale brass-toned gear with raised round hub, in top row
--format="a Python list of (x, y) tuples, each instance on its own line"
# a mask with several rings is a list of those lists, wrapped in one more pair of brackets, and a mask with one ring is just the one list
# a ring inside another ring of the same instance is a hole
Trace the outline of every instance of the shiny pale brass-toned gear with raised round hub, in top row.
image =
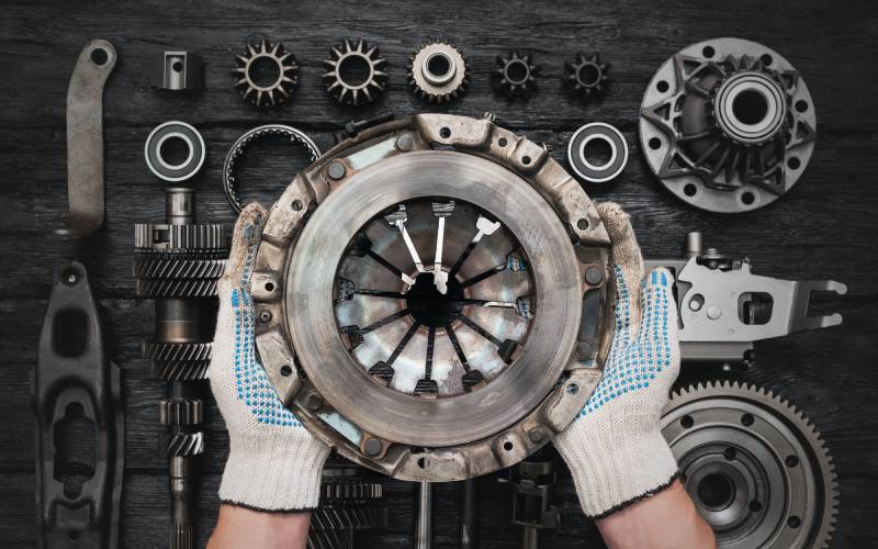
[(466, 57), (453, 45), (434, 41), (412, 54), (408, 85), (430, 103), (458, 99), (469, 85)]

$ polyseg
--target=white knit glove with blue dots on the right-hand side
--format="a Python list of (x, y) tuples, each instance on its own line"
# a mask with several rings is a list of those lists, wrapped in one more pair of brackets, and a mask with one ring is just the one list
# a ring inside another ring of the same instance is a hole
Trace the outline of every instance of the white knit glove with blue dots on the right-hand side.
[(598, 204), (598, 212), (612, 240), (616, 333), (595, 393), (555, 439), (593, 518), (660, 492), (678, 474), (658, 427), (679, 372), (673, 279), (660, 268), (642, 280), (628, 215), (615, 203)]

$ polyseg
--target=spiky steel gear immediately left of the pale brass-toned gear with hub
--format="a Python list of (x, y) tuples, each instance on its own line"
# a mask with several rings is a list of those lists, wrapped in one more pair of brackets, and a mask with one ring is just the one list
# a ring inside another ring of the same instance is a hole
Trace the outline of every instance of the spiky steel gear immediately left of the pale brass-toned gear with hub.
[(387, 60), (381, 57), (378, 46), (370, 47), (363, 38), (356, 45), (346, 40), (333, 46), (323, 64), (326, 91), (339, 103), (358, 107), (371, 103), (384, 92)]

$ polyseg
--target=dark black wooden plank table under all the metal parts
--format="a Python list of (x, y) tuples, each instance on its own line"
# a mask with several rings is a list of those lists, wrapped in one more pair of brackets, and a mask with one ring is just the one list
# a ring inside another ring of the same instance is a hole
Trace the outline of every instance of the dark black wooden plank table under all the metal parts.
[[(330, 45), (364, 36), (389, 59), (387, 93), (375, 104), (337, 107), (323, 91), (320, 60)], [(734, 216), (708, 214), (675, 200), (651, 176), (637, 138), (638, 107), (658, 65), (680, 47), (718, 36), (741, 36), (775, 48), (801, 71), (818, 112), (818, 143), (804, 177), (789, 195), (763, 210)], [(295, 100), (275, 112), (244, 104), (229, 69), (245, 41), (282, 41), (302, 64)], [(878, 325), (878, 108), (874, 93), (878, 8), (867, 1), (766, 2), (4, 2), (0, 45), (0, 546), (35, 545), (34, 430), (29, 391), (52, 270), (78, 259), (100, 298), (110, 354), (122, 367), (127, 423), (122, 509), (125, 547), (164, 545), (168, 524), (166, 463), (156, 450), (161, 432), (156, 402), (164, 385), (149, 379), (139, 343), (151, 333), (150, 302), (133, 299), (133, 225), (160, 220), (162, 183), (146, 168), (143, 144), (167, 120), (194, 124), (209, 146), (194, 180), (203, 221), (234, 221), (219, 171), (230, 143), (245, 130), (285, 122), (322, 147), (351, 116), (386, 110), (425, 111), (406, 87), (408, 56), (419, 42), (444, 37), (469, 55), (472, 85), (443, 111), (497, 114), (502, 124), (544, 141), (563, 161), (571, 133), (589, 121), (615, 124), (631, 156), (614, 183), (588, 188), (597, 199), (621, 202), (648, 256), (679, 253), (687, 231), (729, 254), (747, 255), (758, 273), (834, 278), (849, 287), (840, 300), (841, 328), (799, 334), (758, 345), (757, 366), (742, 374), (786, 395), (823, 433), (841, 484), (834, 547), (878, 545), (878, 399), (875, 339)], [(86, 239), (44, 236), (66, 211), (65, 98), (81, 47), (112, 42), (120, 56), (105, 93), (106, 223)], [(195, 96), (160, 93), (147, 86), (148, 56), (184, 48), (204, 56), (205, 88)], [(491, 91), (496, 54), (536, 53), (540, 90), (528, 103), (509, 104)], [(612, 64), (614, 83), (603, 102), (583, 107), (560, 89), (561, 67), (577, 49), (595, 49)], [(244, 194), (271, 202), (302, 167), (281, 147), (254, 150), (245, 166)], [(262, 181), (257, 184), (255, 181)], [(707, 370), (686, 368), (688, 379)], [(212, 406), (211, 406), (212, 407)], [(209, 450), (199, 494), (200, 542), (216, 513), (216, 489), (226, 457), (222, 417), (209, 414)], [(516, 547), (506, 492), (493, 477), (480, 479), (481, 547)], [(582, 518), (571, 482), (560, 483), (563, 529), (542, 547), (599, 546)], [(391, 528), (368, 547), (409, 547), (412, 485), (390, 482)], [(437, 548), (457, 545), (457, 488), (438, 489)], [(585, 540), (585, 541), (584, 541)]]

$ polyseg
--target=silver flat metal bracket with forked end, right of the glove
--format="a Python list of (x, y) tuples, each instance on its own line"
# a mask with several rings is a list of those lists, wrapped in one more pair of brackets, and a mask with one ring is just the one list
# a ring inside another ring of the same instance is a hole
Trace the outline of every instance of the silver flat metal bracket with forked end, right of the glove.
[(683, 360), (753, 363), (753, 341), (837, 326), (838, 313), (809, 316), (814, 292), (847, 293), (834, 280), (781, 280), (751, 272), (750, 260), (702, 249), (701, 234), (686, 236), (680, 259), (649, 259), (676, 277)]

